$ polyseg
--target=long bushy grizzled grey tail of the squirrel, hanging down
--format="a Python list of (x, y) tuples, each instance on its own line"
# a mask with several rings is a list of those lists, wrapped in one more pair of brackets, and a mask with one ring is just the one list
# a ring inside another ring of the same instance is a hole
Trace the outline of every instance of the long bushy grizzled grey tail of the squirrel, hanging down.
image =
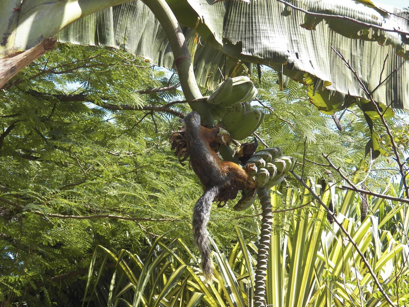
[(192, 229), (196, 245), (202, 254), (202, 270), (206, 280), (211, 280), (213, 276), (213, 261), (211, 259), (211, 249), (209, 245), (209, 233), (207, 232), (207, 222), (209, 221), (210, 208), (213, 199), (219, 193), (218, 187), (209, 187), (203, 192), (193, 207)]

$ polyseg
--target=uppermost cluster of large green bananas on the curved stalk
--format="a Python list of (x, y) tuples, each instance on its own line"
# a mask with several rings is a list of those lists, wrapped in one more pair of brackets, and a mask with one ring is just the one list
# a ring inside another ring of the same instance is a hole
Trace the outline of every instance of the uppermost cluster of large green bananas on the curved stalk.
[(216, 90), (207, 97), (210, 112), (215, 120), (220, 120), (229, 108), (238, 102), (251, 102), (257, 89), (247, 76), (230, 78), (218, 84)]

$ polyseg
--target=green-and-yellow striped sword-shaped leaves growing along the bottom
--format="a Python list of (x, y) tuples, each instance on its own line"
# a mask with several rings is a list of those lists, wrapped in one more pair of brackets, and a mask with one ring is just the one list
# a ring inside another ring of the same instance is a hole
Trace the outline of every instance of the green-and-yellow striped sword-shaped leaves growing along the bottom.
[[(315, 185), (310, 183), (310, 186)], [(314, 190), (320, 194), (319, 188)], [(402, 192), (399, 184), (393, 185), (393, 191)], [(338, 226), (328, 224), (325, 210), (311, 199), (308, 190), (300, 192), (288, 190), (286, 195), (288, 203), (302, 206), (297, 214), (274, 213), (267, 305), (386, 306), (351, 242)], [(321, 192), (322, 200), (328, 204), (330, 192)], [(272, 193), (273, 208), (279, 202), (277, 196), (276, 192)], [(391, 300), (397, 303), (399, 299), (402, 306), (409, 299), (409, 249), (407, 226), (400, 222), (408, 214), (402, 205), (373, 197), (369, 199), (373, 214), (361, 223), (360, 214), (354, 210), (360, 201), (355, 192), (337, 193), (335, 205), (342, 204), (351, 213), (347, 218), (344, 215), (347, 212), (340, 212), (337, 219), (364, 251)], [(180, 239), (158, 237), (143, 258), (124, 250), (115, 254), (99, 246), (95, 253), (108, 257), (99, 267), (92, 262), (85, 301), (97, 306), (133, 306), (138, 302), (146, 307), (189, 306), (192, 300), (200, 301), (201, 306), (252, 306), (254, 242), (245, 240), (236, 229), (235, 242), (222, 250), (214, 243), (213, 247), (215, 277), (206, 287), (197, 276), (198, 260)], [(114, 263), (115, 269), (101, 271), (108, 262)], [(180, 275), (178, 282), (171, 283), (176, 274)]]

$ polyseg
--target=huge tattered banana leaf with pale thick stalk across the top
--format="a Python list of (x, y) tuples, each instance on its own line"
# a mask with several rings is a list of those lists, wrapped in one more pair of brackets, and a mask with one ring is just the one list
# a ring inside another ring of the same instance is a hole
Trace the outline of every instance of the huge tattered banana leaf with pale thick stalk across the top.
[[(230, 74), (243, 62), (260, 63), (299, 82), (322, 84), (321, 92), (342, 94), (341, 101), (330, 102), (326, 97), (333, 95), (321, 93), (321, 107), (335, 111), (364, 93), (332, 46), (374, 91), (375, 101), (409, 108), (408, 11), (353, 0), (167, 2), (189, 44), (197, 44), (190, 50), (196, 50), (195, 75), (202, 86), (220, 81), (218, 68)], [(0, 10), (0, 57), (58, 33), (61, 42), (121, 47), (173, 68), (166, 35), (141, 1), (6, 0)]]

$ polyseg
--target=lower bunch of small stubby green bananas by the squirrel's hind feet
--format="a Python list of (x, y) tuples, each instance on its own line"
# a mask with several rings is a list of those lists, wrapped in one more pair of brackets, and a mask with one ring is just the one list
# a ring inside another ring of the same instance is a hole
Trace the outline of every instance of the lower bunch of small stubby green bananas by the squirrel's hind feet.
[[(245, 168), (249, 169), (248, 165), (252, 164), (255, 167), (251, 168), (252, 174), (248, 173), (249, 178), (255, 180), (258, 187), (271, 189), (283, 181), (285, 175), (294, 167), (295, 159), (291, 156), (283, 156), (280, 147), (269, 147), (254, 153), (247, 161)], [(244, 210), (251, 206), (255, 199), (256, 190), (245, 189), (233, 209)]]

